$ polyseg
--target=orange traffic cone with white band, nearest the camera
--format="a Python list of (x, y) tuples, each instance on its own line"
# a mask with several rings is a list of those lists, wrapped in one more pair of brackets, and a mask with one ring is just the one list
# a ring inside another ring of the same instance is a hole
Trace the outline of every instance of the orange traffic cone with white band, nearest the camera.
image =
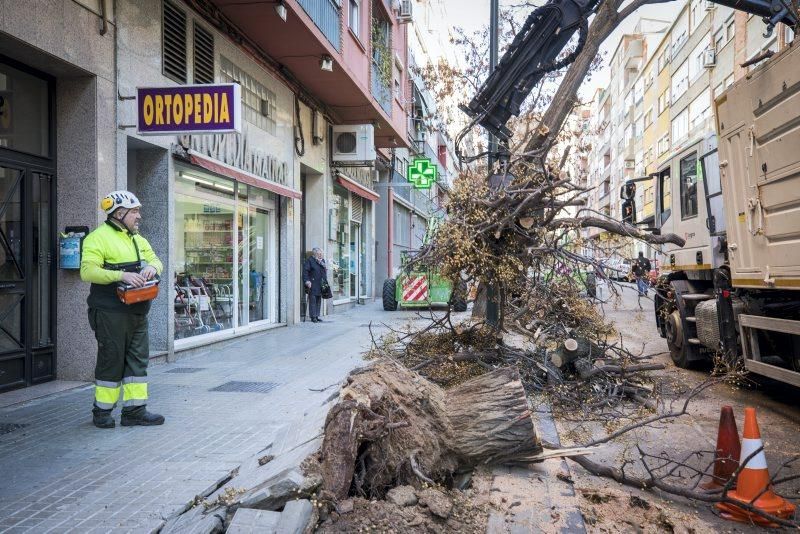
[[(728, 497), (737, 501), (750, 504), (777, 517), (789, 518), (794, 514), (795, 505), (775, 495), (769, 482), (767, 470), (767, 457), (761, 450), (748, 461), (747, 458), (763, 447), (761, 432), (758, 430), (755, 408), (744, 409), (744, 432), (742, 434), (741, 461), (747, 461), (739, 472), (736, 481), (736, 490), (729, 491)], [(725, 519), (758, 523), (766, 526), (777, 526), (759, 515), (744, 510), (735, 504), (717, 503), (720, 515)]]

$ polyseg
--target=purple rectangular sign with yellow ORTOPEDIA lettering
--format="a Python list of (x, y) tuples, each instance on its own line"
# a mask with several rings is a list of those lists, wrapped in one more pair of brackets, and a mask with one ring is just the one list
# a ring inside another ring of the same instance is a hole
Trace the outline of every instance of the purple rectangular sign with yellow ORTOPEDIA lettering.
[(144, 135), (242, 131), (237, 83), (138, 87), (136, 110), (137, 131)]

